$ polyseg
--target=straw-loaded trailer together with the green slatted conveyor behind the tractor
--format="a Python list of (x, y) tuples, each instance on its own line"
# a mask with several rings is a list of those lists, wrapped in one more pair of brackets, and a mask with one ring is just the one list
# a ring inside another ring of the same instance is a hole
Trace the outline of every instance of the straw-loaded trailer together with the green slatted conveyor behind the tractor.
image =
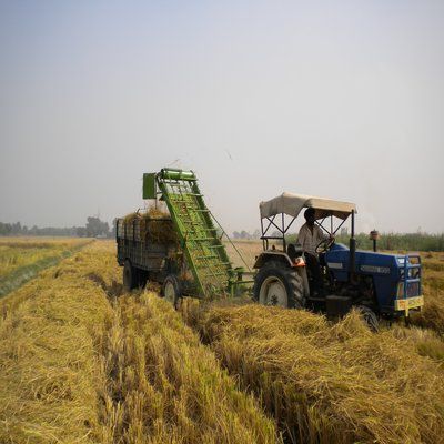
[(192, 171), (162, 169), (144, 174), (143, 199), (164, 202), (169, 214), (118, 219), (118, 262), (127, 290), (158, 282), (162, 295), (176, 303), (183, 295), (234, 295), (252, 283), (244, 279), (245, 269), (230, 261), (223, 243), (230, 239), (205, 205)]

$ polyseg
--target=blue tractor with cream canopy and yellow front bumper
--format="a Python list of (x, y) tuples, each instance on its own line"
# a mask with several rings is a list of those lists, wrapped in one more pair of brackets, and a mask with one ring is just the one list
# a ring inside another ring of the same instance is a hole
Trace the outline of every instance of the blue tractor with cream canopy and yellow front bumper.
[[(322, 293), (314, 291), (313, 275), (306, 266), (304, 251), (289, 243), (289, 229), (303, 209), (312, 208), (315, 224), (325, 233), (316, 246)], [(253, 295), (265, 305), (309, 309), (329, 317), (345, 315), (352, 307), (360, 311), (372, 330), (382, 317), (408, 316), (421, 310), (418, 254), (386, 254), (356, 250), (353, 203), (331, 199), (283, 193), (260, 203), (263, 252), (256, 258)], [(349, 248), (335, 243), (334, 235), (351, 220)]]

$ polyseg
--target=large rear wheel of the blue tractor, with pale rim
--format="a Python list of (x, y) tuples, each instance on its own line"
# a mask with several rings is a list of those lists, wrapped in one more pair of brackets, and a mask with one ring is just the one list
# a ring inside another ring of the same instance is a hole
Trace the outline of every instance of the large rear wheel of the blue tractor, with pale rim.
[(304, 284), (302, 276), (281, 262), (270, 261), (254, 278), (254, 299), (263, 305), (285, 309), (304, 306)]

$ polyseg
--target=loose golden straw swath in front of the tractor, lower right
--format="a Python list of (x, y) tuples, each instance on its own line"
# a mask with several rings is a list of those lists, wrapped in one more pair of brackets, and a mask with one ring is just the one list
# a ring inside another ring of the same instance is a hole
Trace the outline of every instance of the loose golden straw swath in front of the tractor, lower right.
[(372, 334), (355, 313), (330, 325), (304, 311), (259, 305), (183, 311), (287, 438), (444, 442), (443, 372), (418, 355), (417, 341)]

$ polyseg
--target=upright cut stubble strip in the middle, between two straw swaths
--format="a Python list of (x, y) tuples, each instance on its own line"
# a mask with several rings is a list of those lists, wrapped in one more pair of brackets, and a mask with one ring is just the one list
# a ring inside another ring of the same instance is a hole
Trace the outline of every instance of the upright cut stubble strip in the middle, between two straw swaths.
[(172, 305), (120, 297), (109, 333), (103, 442), (279, 443), (274, 423), (221, 371)]

